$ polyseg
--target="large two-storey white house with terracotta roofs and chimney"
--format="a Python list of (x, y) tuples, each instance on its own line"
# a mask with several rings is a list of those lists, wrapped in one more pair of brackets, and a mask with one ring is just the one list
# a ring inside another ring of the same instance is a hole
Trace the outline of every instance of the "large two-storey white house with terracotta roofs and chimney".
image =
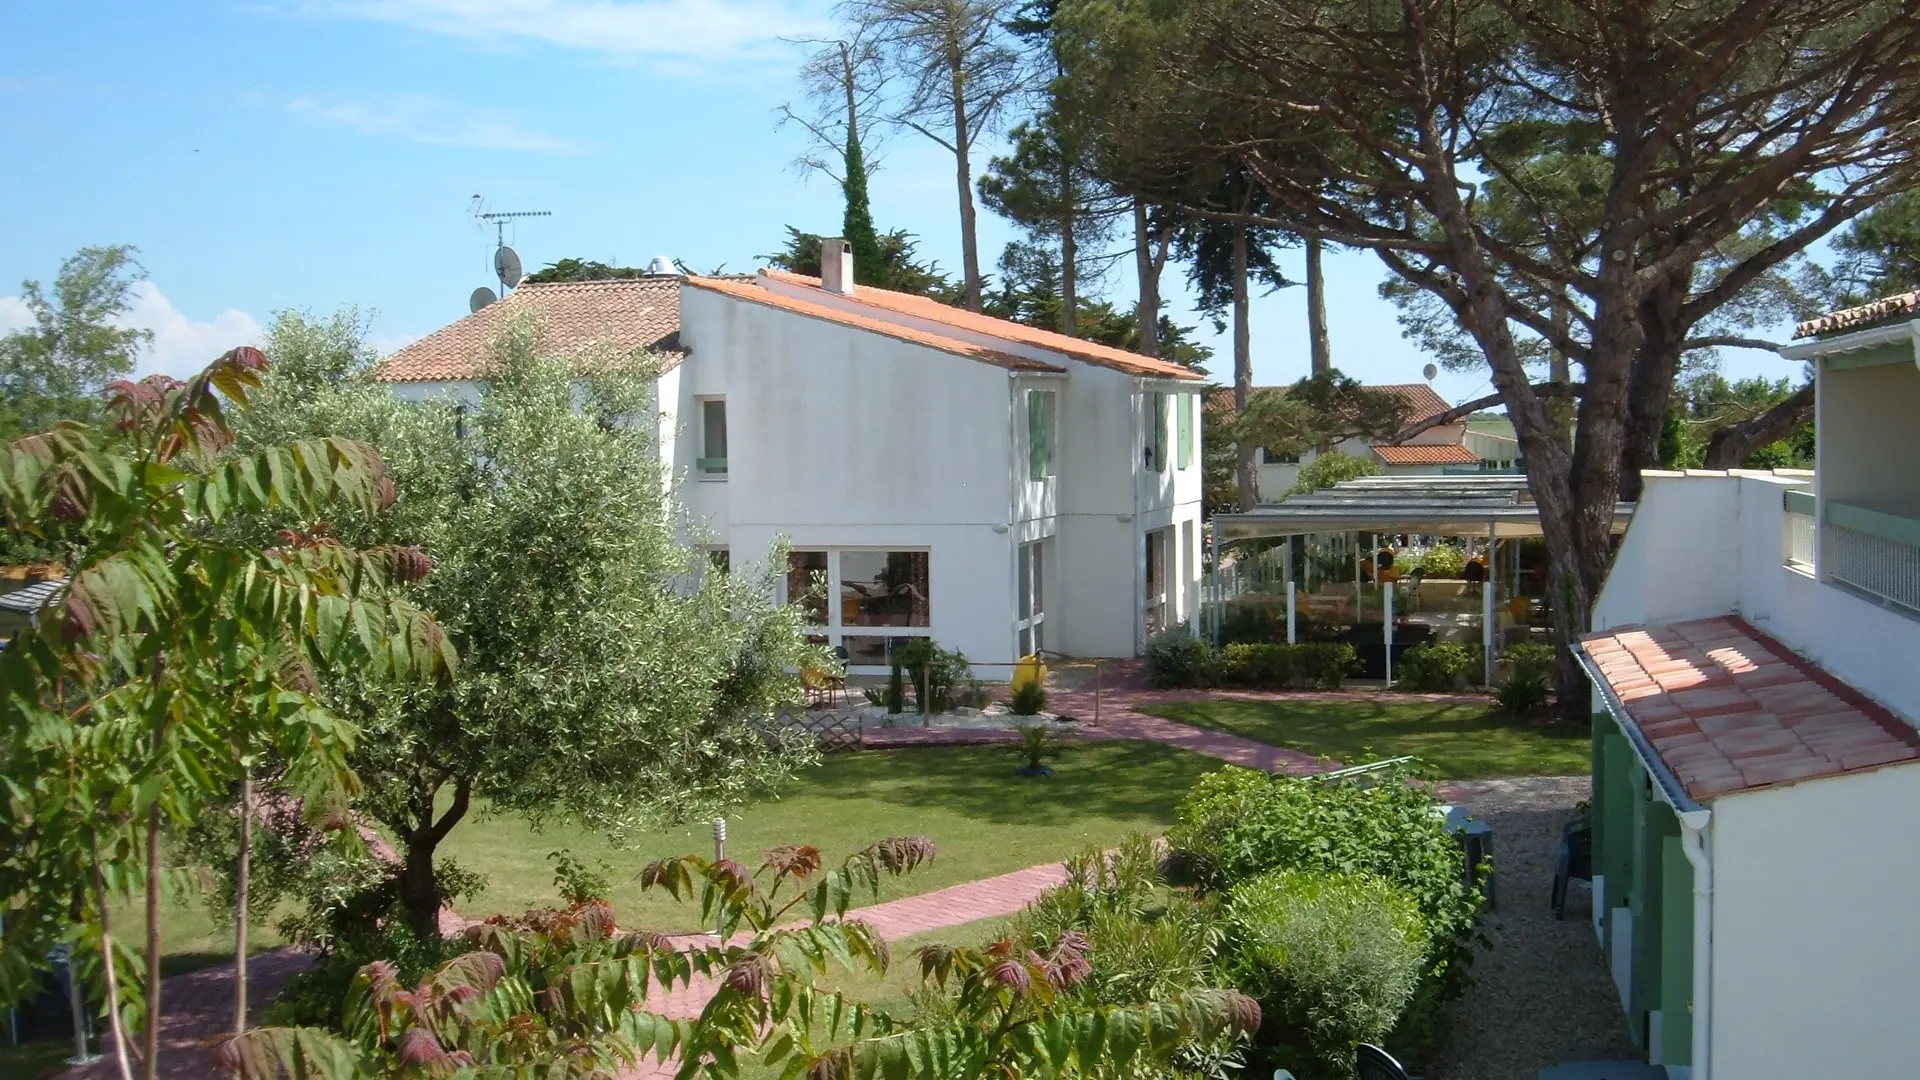
[[(837, 254), (835, 254), (837, 252)], [(931, 636), (985, 671), (1137, 655), (1200, 580), (1200, 377), (1094, 342), (762, 271), (522, 286), (394, 354), (407, 398), (474, 394), (516, 309), (563, 354), (670, 350), (662, 446), (716, 559), (785, 538), (789, 596), (854, 671)], [(561, 290), (578, 290), (563, 294)], [(668, 319), (670, 317), (670, 319)]]

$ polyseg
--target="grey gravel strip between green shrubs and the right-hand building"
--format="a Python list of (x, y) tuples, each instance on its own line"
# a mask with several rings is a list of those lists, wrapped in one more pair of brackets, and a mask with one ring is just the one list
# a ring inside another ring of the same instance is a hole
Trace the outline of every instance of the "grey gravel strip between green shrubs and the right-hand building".
[(1450, 1005), (1430, 1080), (1536, 1080), (1563, 1061), (1644, 1061), (1590, 920), (1590, 894), (1572, 890), (1567, 920), (1548, 907), (1561, 824), (1586, 799), (1586, 776), (1524, 776), (1463, 784), (1459, 805), (1494, 826), (1500, 909), (1494, 942), (1473, 965), (1473, 986)]

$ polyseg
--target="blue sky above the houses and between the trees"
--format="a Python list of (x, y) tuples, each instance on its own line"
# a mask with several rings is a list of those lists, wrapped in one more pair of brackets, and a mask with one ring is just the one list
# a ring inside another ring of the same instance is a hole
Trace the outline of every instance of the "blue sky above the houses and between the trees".
[[(0, 329), (21, 279), (52, 279), (83, 244), (136, 244), (146, 369), (196, 369), (288, 307), (355, 306), (388, 348), (461, 317), (492, 284), (474, 194), (553, 211), (509, 229), (528, 267), (674, 256), (745, 271), (783, 225), (839, 227), (837, 186), (791, 167), (804, 142), (774, 115), (801, 58), (781, 38), (831, 29), (818, 0), (73, 0), (10, 4), (6, 27)], [(914, 135), (881, 154), (879, 225), (956, 271), (950, 158)], [(981, 209), (983, 265), (1010, 238)], [(1283, 265), (1298, 277), (1300, 254)], [(1334, 363), (1417, 380), (1427, 357), (1400, 338), (1373, 256), (1334, 254), (1327, 273)], [(1169, 296), (1183, 277), (1169, 269)], [(1133, 281), (1108, 288), (1125, 300)], [(1256, 380), (1306, 371), (1304, 307), (1300, 288), (1256, 300)], [(1175, 317), (1200, 321), (1185, 296)], [(1212, 367), (1231, 373), (1225, 356)], [(1436, 386), (1490, 390), (1484, 375)]]

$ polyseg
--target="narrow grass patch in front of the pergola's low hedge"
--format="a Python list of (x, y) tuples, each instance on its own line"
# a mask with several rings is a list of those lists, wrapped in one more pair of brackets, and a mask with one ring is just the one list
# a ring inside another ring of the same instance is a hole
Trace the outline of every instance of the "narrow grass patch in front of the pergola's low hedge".
[(1419, 757), (1442, 780), (1478, 776), (1582, 776), (1592, 769), (1586, 726), (1515, 721), (1459, 701), (1183, 701), (1142, 709), (1156, 717), (1244, 736), (1267, 746), (1359, 763)]

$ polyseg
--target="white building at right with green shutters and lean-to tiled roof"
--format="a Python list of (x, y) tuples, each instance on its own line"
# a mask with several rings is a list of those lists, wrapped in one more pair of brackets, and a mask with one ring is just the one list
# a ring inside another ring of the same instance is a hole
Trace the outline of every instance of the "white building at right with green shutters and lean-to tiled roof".
[(1645, 473), (1578, 655), (1594, 926), (1693, 1080), (1920, 1063), (1920, 294), (1801, 325), (1814, 473)]

